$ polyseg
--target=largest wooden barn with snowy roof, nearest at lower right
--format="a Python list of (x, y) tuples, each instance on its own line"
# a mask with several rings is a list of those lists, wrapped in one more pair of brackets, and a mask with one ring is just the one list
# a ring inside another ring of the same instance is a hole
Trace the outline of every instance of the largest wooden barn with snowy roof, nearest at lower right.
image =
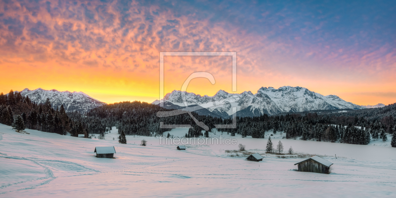
[[(313, 156), (306, 160), (303, 160), (298, 164), (298, 171), (301, 172), (312, 172), (312, 173), (330, 173), (330, 166), (333, 164), (319, 156)], [(294, 164), (294, 165), (297, 165)]]

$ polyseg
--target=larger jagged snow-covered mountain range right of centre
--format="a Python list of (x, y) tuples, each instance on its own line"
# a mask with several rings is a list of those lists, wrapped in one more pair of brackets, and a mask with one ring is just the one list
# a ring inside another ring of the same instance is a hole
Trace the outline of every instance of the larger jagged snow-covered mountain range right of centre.
[[(274, 115), (282, 112), (302, 112), (307, 110), (331, 109), (366, 109), (360, 105), (347, 102), (336, 95), (321, 95), (303, 87), (284, 86), (278, 89), (260, 88), (257, 93), (244, 91), (243, 93), (228, 93), (220, 90), (213, 96), (197, 95), (185, 92), (189, 107), (200, 105), (198, 114), (217, 115), (227, 118), (232, 115), (232, 106), (237, 109), (237, 116), (259, 116), (261, 114)], [(174, 90), (167, 93), (161, 101), (167, 109), (183, 109), (182, 91)]]

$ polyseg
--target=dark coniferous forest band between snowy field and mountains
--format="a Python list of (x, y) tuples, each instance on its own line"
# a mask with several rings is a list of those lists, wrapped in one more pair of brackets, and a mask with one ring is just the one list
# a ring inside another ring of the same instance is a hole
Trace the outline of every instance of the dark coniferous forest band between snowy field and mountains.
[[(16, 116), (23, 119), (25, 127), (40, 131), (72, 136), (84, 134), (101, 134), (111, 130), (113, 126), (125, 135), (159, 136), (170, 129), (160, 128), (164, 124), (190, 124), (186, 137), (207, 136), (202, 128), (195, 124), (188, 114), (180, 114), (159, 118), (158, 111), (171, 111), (145, 102), (120, 102), (103, 105), (89, 112), (65, 112), (63, 106), (53, 109), (49, 99), (44, 104), (36, 104), (29, 97), (23, 97), (12, 90), (8, 95), (0, 94), (0, 123), (11, 126)], [(192, 112), (194, 117), (204, 122), (209, 131), (214, 124), (232, 124), (232, 118), (222, 119), (211, 116), (200, 116)], [(303, 139), (326, 142), (367, 145), (371, 139), (383, 139), (396, 131), (396, 103), (383, 108), (350, 110), (348, 112), (318, 114), (291, 113), (280, 116), (236, 117), (235, 129), (218, 129), (232, 136), (264, 138), (265, 131), (285, 133), (287, 139)], [(392, 138), (395, 139), (395, 138)], [(393, 146), (394, 144), (392, 144)], [(395, 145), (396, 146), (396, 145)]]

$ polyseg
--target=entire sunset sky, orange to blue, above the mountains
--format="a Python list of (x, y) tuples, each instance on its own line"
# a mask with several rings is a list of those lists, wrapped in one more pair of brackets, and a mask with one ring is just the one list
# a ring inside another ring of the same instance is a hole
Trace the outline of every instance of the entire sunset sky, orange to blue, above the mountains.
[(0, 92), (82, 91), (106, 103), (300, 86), (358, 105), (396, 102), (395, 1), (0, 0)]

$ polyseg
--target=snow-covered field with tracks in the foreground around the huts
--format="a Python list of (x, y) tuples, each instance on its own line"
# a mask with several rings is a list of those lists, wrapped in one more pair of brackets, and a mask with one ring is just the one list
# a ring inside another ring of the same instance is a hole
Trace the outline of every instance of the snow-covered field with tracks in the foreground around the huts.
[[(183, 131), (184, 130), (184, 131)], [(396, 148), (272, 137), (285, 151), (327, 155), (331, 174), (293, 171), (299, 158), (267, 154), (262, 162), (231, 157), (237, 145), (160, 145), (158, 137), (127, 136), (113, 128), (105, 140), (84, 139), (0, 124), (0, 197), (394, 197)], [(185, 134), (187, 129), (175, 129)], [(210, 133), (211, 137), (217, 137)], [(269, 133), (268, 133), (269, 134)], [(265, 139), (235, 138), (263, 152)], [(112, 139), (114, 137), (114, 140)], [(227, 133), (223, 137), (229, 138)], [(139, 146), (146, 139), (146, 147)], [(115, 159), (96, 158), (96, 146), (115, 146)], [(337, 154), (337, 158), (334, 157)]]

